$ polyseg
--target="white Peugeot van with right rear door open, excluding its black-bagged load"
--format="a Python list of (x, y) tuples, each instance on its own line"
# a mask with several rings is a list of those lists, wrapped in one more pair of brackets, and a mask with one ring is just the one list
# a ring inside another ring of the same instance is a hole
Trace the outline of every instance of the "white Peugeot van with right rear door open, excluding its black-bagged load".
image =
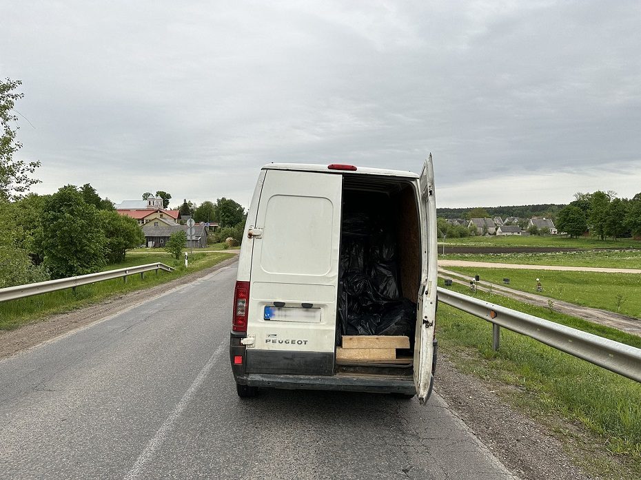
[[(379, 207), (368, 206), (369, 200)], [(374, 217), (376, 208), (381, 216), (385, 211), (380, 235), (397, 249), (397, 290), (403, 286), (397, 300), (416, 304), (413, 347), (400, 368), (336, 362), (347, 328), (338, 318), (339, 295), (351, 288), (340, 278), (343, 210), (370, 207)], [(230, 358), (238, 395), (253, 396), (258, 387), (335, 389), (418, 395), (423, 403), (436, 362), (436, 252), (431, 155), (420, 175), (351, 165), (265, 165), (247, 215), (234, 295)]]

